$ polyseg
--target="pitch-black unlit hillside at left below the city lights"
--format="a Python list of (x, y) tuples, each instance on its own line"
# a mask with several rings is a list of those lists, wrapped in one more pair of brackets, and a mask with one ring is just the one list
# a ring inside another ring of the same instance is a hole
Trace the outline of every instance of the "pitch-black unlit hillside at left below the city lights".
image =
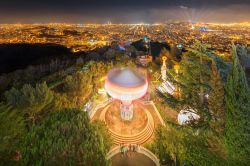
[(1, 44), (0, 73), (46, 64), (56, 58), (70, 58), (68, 54), (69, 49), (57, 44)]

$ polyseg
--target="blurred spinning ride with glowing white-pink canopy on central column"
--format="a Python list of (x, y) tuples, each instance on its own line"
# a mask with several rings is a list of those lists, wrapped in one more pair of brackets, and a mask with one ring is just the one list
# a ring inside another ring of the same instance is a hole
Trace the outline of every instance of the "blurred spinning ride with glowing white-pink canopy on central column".
[(144, 96), (148, 89), (146, 77), (130, 68), (117, 68), (109, 71), (105, 81), (105, 90), (121, 101), (120, 111), (123, 120), (133, 118), (132, 101)]

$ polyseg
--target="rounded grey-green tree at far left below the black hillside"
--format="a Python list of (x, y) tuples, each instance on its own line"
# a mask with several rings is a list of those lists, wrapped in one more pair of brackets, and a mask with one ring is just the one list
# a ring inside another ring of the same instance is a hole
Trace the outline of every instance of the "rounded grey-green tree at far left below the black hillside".
[(53, 92), (47, 84), (23, 85), (22, 89), (12, 88), (5, 93), (7, 104), (21, 110), (28, 117), (28, 121), (35, 123), (37, 114), (46, 109), (54, 99)]

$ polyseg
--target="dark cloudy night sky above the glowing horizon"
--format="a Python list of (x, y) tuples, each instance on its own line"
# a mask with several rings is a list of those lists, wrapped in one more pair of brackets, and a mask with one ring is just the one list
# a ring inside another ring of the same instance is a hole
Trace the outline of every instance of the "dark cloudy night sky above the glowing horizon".
[(250, 0), (0, 0), (0, 23), (250, 22)]

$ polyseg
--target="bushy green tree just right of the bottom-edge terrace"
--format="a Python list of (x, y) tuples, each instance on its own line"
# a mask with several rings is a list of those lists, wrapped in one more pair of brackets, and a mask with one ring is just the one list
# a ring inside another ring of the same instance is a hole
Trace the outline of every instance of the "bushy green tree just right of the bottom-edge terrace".
[(223, 160), (209, 149), (204, 135), (191, 128), (161, 127), (155, 137), (156, 154), (170, 156), (174, 165), (221, 165)]

